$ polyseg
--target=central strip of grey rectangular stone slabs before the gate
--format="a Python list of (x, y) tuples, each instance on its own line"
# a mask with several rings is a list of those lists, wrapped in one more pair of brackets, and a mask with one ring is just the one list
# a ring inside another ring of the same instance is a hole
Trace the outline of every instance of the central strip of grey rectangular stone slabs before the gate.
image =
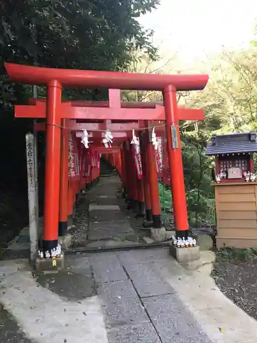
[[(90, 257), (103, 300), (110, 343), (210, 343), (206, 333), (155, 268), (167, 249), (101, 253)], [(104, 272), (103, 272), (104, 271)], [(100, 275), (100, 278), (99, 278)]]

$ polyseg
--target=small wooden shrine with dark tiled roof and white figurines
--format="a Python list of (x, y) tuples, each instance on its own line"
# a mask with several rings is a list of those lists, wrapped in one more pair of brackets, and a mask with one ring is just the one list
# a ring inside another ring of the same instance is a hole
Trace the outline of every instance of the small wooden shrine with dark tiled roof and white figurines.
[(212, 135), (215, 156), (217, 248), (257, 248), (256, 132)]

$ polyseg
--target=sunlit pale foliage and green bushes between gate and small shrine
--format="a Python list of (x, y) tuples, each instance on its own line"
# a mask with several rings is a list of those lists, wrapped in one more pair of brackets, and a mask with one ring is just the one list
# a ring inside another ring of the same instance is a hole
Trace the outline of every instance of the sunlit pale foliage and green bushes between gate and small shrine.
[[(205, 156), (211, 134), (247, 132), (257, 122), (257, 45), (223, 51), (212, 56), (206, 89), (186, 97), (187, 106), (203, 108), (204, 121), (182, 123), (182, 150), (189, 219), (215, 224), (211, 171), (213, 159)], [(256, 163), (255, 163), (256, 164)]]

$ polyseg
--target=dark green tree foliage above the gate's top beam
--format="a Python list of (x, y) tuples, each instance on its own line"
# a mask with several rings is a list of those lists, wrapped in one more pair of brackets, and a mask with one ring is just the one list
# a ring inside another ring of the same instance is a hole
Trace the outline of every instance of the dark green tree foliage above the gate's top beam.
[(1, 56), (41, 66), (113, 70), (132, 49), (154, 57), (151, 32), (138, 24), (158, 0), (1, 1)]

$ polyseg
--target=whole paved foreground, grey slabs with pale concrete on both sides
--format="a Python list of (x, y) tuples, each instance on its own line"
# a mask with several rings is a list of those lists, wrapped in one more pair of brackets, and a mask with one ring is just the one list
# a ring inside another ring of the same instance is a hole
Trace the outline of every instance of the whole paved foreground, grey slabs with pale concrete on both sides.
[(256, 321), (215, 286), (208, 254), (187, 268), (166, 248), (75, 255), (40, 276), (2, 261), (1, 343), (255, 343)]

